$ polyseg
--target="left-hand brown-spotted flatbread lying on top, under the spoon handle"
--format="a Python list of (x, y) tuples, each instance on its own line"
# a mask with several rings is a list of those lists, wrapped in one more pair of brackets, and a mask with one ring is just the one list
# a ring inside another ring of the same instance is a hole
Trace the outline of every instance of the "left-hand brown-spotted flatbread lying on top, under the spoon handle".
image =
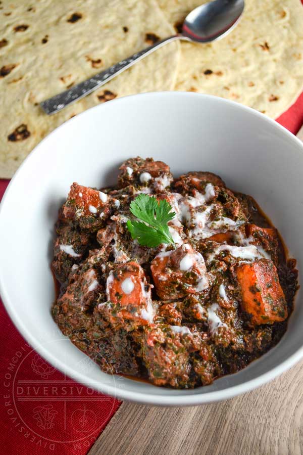
[(0, 177), (11, 177), (37, 143), (73, 115), (116, 97), (174, 86), (178, 42), (47, 116), (41, 101), (173, 28), (155, 0), (4, 0), (0, 9)]

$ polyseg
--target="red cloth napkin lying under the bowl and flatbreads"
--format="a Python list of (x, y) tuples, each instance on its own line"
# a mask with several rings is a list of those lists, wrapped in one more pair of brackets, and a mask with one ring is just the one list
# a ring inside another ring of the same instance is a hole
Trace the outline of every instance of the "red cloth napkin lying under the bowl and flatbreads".
[[(296, 134), (303, 94), (277, 121)], [(0, 180), (0, 199), (9, 180)], [(48, 365), (18, 333), (0, 301), (0, 404), (4, 453), (84, 455), (121, 402), (87, 389)]]

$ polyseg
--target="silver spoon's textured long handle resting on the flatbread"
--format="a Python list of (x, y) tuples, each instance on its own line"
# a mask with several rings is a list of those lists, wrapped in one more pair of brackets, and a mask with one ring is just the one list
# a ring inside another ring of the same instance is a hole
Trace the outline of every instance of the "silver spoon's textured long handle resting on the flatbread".
[(149, 46), (148, 48), (143, 49), (140, 52), (137, 52), (131, 57), (128, 57), (125, 60), (121, 60), (121, 62), (117, 63), (116, 65), (110, 66), (105, 71), (95, 74), (89, 79), (86, 79), (83, 82), (74, 85), (68, 90), (65, 90), (65, 92), (62, 92), (58, 95), (55, 95), (52, 98), (42, 101), (40, 103), (41, 108), (48, 115), (55, 114), (56, 112), (61, 111), (61, 109), (65, 108), (71, 103), (74, 103), (77, 100), (80, 100), (80, 98), (85, 97), (89, 93), (93, 92), (93, 90), (96, 90), (101, 85), (105, 84), (109, 80), (116, 77), (118, 74), (122, 73), (122, 71), (134, 65), (139, 60), (143, 59), (147, 55), (161, 48), (166, 43), (174, 41), (175, 39), (186, 38), (184, 38), (184, 36), (182, 35), (173, 35), (169, 36), (168, 38), (162, 39), (161, 41), (158, 41), (156, 44)]

